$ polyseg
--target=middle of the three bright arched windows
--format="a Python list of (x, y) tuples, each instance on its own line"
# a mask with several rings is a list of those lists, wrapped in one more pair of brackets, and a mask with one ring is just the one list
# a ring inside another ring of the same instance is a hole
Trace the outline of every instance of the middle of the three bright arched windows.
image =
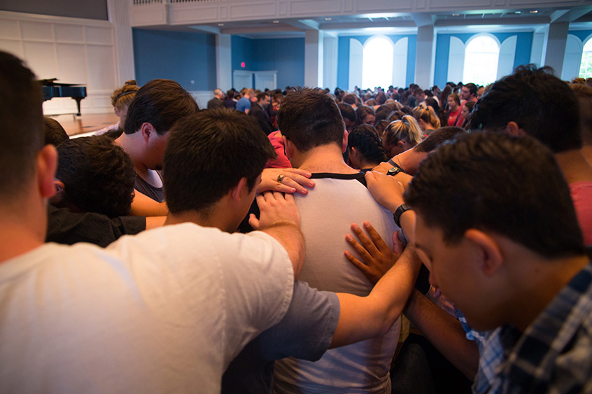
[(479, 35), (472, 38), (465, 48), (464, 83), (488, 85), (497, 79), (500, 45), (495, 38)]

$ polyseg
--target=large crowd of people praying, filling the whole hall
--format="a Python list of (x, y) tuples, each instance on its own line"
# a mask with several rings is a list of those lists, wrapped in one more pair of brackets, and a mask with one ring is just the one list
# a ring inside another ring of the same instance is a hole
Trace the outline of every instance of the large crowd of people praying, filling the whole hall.
[(592, 387), (586, 80), (130, 80), (78, 139), (0, 80), (0, 392)]

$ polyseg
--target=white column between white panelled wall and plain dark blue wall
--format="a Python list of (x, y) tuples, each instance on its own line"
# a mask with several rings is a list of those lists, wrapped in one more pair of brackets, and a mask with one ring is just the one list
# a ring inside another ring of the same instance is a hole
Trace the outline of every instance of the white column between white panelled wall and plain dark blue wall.
[(135, 79), (134, 38), (129, 24), (129, 1), (107, 0), (109, 22), (115, 32), (115, 53), (117, 55), (117, 83), (122, 86), (126, 80)]

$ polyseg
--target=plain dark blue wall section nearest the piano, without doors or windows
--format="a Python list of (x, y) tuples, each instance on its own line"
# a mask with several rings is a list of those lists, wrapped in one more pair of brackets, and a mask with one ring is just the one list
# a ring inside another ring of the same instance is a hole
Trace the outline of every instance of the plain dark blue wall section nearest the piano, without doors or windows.
[(166, 78), (176, 80), (186, 90), (216, 89), (213, 34), (133, 29), (133, 38), (138, 85)]

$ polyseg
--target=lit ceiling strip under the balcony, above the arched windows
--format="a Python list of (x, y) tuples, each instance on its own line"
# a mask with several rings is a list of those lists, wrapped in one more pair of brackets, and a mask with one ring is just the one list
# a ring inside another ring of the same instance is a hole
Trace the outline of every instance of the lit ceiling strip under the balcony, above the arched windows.
[(417, 28), (433, 25), (436, 32), (540, 31), (551, 22), (570, 22), (570, 29), (592, 29), (592, 6), (524, 8), (512, 10), (463, 10), (446, 13), (380, 13), (326, 15), (309, 19), (233, 21), (191, 24), (184, 28), (246, 38), (304, 37), (306, 29), (334, 36), (360, 34), (414, 34)]

